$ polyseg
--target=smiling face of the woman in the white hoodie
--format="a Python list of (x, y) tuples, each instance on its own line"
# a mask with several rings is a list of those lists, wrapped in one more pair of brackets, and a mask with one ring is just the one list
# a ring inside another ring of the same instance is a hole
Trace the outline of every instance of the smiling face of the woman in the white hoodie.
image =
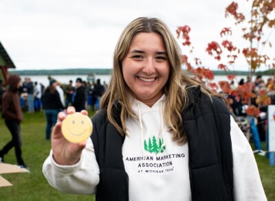
[(162, 36), (140, 33), (133, 37), (122, 60), (122, 73), (133, 96), (153, 106), (162, 96), (169, 76), (169, 62)]

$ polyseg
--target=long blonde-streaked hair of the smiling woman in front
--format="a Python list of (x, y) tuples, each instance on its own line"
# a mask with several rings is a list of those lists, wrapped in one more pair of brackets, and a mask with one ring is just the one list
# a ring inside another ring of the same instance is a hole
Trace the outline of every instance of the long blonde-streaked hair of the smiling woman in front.
[[(111, 80), (107, 91), (102, 96), (100, 108), (107, 108), (107, 117), (120, 134), (126, 134), (125, 119), (127, 117), (135, 117), (127, 94), (129, 88), (124, 81), (122, 75), (122, 60), (128, 54), (131, 41), (136, 34), (155, 32), (162, 36), (168, 60), (170, 64), (169, 78), (164, 86), (166, 95), (166, 106), (164, 108), (164, 119), (173, 134), (173, 140), (177, 143), (185, 143), (186, 136), (181, 128), (181, 112), (188, 103), (188, 95), (186, 87), (195, 87), (200, 83), (192, 78), (188, 78), (181, 69), (181, 51), (177, 41), (170, 33), (168, 27), (159, 19), (140, 17), (133, 20), (127, 25), (115, 47), (113, 56), (113, 70), (111, 72)], [(207, 88), (201, 87), (201, 91), (211, 94)], [(115, 121), (113, 117), (113, 105), (118, 102), (121, 106), (120, 121), (122, 127)]]

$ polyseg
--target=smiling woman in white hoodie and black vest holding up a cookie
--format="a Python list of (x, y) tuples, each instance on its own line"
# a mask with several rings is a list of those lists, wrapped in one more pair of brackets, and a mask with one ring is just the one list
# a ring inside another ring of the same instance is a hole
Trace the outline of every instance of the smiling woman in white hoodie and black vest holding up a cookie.
[(58, 115), (43, 165), (50, 185), (108, 201), (266, 200), (251, 147), (225, 103), (184, 75), (180, 58), (162, 21), (127, 25), (91, 139), (65, 141), (66, 115)]

